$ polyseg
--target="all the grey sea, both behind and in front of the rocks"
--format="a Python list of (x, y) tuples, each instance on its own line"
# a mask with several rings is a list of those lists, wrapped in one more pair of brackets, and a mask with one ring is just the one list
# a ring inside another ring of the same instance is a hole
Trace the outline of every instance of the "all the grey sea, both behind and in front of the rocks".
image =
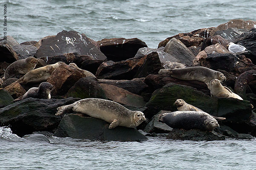
[[(7, 34), (18, 42), (62, 30), (93, 40), (137, 37), (151, 48), (166, 37), (231, 19), (256, 20), (255, 0), (0, 0)], [(0, 36), (3, 36), (3, 17)], [(31, 142), (0, 127), (0, 170), (255, 170), (256, 139), (145, 142), (49, 138)]]

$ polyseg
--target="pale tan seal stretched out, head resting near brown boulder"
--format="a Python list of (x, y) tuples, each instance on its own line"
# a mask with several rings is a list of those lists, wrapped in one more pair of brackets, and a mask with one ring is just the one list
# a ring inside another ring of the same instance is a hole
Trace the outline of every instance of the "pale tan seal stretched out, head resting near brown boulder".
[(56, 62), (55, 64), (46, 65), (44, 67), (40, 67), (35, 70), (29, 71), (16, 82), (20, 84), (44, 82), (50, 77), (52, 72), (62, 64), (65, 63), (60, 61)]

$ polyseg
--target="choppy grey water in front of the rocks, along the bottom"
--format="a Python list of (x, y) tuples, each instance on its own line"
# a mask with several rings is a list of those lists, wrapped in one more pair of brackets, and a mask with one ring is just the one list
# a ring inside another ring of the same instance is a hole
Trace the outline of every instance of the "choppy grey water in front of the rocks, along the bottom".
[(0, 127), (1, 170), (255, 170), (256, 139), (99, 142), (49, 138), (32, 142)]

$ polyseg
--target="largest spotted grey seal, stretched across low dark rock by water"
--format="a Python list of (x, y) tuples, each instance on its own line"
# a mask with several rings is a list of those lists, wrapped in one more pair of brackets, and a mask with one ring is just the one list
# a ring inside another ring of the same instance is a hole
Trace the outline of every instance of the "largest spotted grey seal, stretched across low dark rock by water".
[(116, 102), (97, 98), (81, 99), (71, 105), (58, 107), (57, 110), (55, 115), (72, 110), (105, 120), (110, 123), (109, 129), (116, 126), (136, 127), (146, 120), (141, 111), (131, 111)]

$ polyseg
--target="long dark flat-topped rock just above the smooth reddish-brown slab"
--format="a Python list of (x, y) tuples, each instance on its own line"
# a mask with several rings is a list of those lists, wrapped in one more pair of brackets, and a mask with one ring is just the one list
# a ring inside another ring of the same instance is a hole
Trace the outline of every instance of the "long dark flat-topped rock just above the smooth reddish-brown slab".
[(130, 91), (133, 94), (140, 95), (148, 85), (144, 82), (145, 78), (135, 78), (132, 80), (108, 80), (108, 79), (99, 79), (99, 83), (115, 85), (116, 87), (123, 88), (127, 91)]

